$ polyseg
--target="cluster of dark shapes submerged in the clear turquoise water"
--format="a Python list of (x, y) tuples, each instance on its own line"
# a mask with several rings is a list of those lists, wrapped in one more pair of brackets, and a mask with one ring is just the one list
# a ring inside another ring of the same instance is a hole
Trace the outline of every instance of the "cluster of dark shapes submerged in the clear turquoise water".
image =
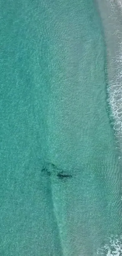
[(46, 172), (48, 176), (55, 174), (59, 179), (66, 179), (66, 178), (72, 178), (71, 174), (65, 173), (61, 168), (58, 168), (53, 163), (48, 163), (47, 165), (43, 166), (41, 169), (42, 172)]

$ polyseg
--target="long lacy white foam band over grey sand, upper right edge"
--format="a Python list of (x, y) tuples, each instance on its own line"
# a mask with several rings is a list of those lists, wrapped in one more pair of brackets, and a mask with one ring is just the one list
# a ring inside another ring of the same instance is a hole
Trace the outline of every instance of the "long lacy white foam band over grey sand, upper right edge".
[[(122, 2), (109, 0), (111, 10), (114, 16), (114, 20), (117, 19), (118, 13), (117, 8), (121, 6), (122, 11)], [(113, 17), (110, 16), (109, 19)], [(114, 24), (113, 24), (114, 26)], [(117, 49), (115, 56), (112, 59), (111, 63), (111, 76), (112, 81), (108, 85), (108, 103), (111, 108), (111, 116), (114, 119), (114, 131), (116, 142), (118, 143), (119, 149), (122, 152), (122, 29), (120, 23), (116, 23), (115, 34), (118, 38)], [(113, 42), (114, 43), (114, 42)], [(122, 158), (122, 155), (120, 156)]]

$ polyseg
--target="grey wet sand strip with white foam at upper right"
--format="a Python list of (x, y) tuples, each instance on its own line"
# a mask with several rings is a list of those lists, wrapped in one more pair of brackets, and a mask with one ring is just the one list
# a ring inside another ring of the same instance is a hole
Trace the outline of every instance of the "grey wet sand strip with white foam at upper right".
[(122, 164), (122, 20), (120, 16), (122, 2), (97, 0), (96, 5), (101, 17), (107, 47), (107, 104), (112, 113), (115, 142)]

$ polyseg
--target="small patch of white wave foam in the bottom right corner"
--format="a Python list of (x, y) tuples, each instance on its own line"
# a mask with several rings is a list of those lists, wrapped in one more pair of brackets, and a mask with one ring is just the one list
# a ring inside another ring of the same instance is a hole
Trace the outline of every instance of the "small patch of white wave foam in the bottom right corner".
[(111, 237), (109, 244), (105, 244), (97, 250), (97, 255), (122, 256), (122, 236)]

